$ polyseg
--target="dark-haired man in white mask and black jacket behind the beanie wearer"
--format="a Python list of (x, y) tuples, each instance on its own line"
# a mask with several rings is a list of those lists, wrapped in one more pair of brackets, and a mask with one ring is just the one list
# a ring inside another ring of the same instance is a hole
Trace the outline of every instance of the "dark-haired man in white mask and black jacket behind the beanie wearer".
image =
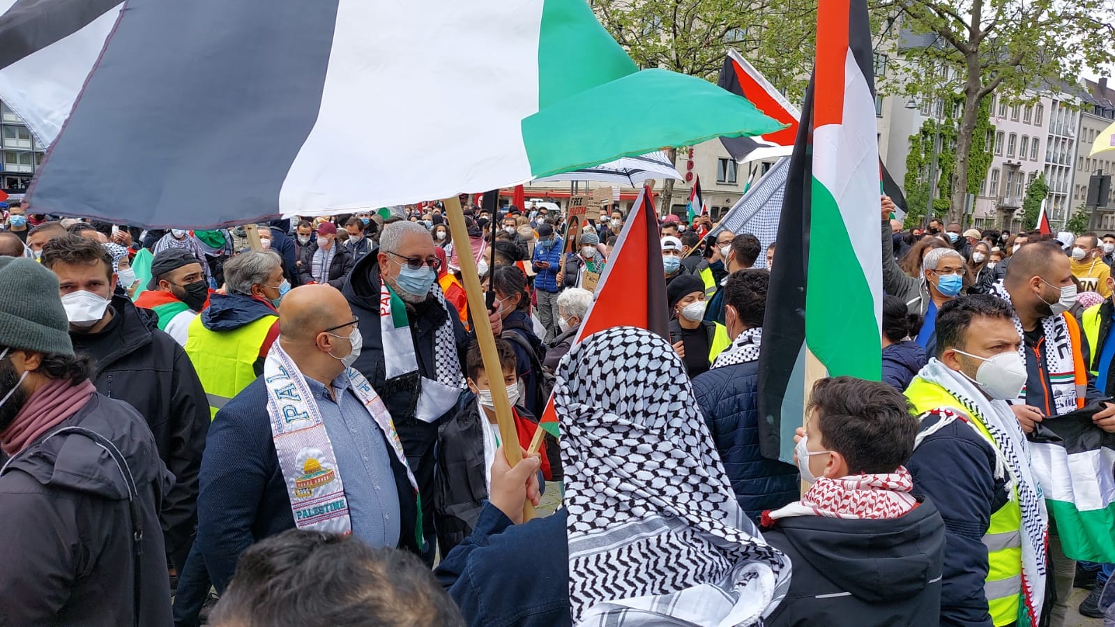
[(181, 572), (196, 522), (197, 473), (210, 426), (201, 380), (174, 338), (116, 290), (118, 276), (105, 245), (69, 234), (47, 242), (41, 261), (58, 277), (74, 350), (93, 360), (97, 392), (139, 412), (175, 476), (159, 521), (167, 556)]

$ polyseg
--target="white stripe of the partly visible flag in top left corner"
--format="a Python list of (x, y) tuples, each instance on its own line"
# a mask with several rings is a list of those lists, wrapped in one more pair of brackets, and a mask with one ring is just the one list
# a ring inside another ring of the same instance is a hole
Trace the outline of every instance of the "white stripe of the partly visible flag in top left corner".
[[(14, 4), (14, 0), (2, 2), (7, 4), (4, 11)], [(49, 146), (61, 131), (122, 6), (0, 70), (4, 104), (27, 124), (40, 144)]]

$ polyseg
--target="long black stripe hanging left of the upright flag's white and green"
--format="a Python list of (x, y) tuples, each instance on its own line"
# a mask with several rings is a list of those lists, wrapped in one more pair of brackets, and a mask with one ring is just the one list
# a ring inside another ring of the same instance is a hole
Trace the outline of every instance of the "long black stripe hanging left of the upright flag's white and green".
[[(805, 409), (805, 278), (808, 273), (809, 206), (813, 189), (813, 79), (805, 91), (802, 120), (789, 157), (789, 174), (778, 221), (778, 245), (767, 291), (759, 346), (759, 452), (777, 460), (782, 417)], [(786, 425), (793, 433), (795, 425)], [(784, 460), (791, 461), (791, 460)]]

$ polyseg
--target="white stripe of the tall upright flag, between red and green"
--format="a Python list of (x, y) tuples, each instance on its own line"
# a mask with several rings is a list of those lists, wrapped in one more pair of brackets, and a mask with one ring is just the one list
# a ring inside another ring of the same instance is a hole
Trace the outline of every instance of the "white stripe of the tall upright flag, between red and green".
[[(879, 144), (875, 100), (852, 50), (844, 60), (843, 123), (814, 131), (813, 176), (836, 200), (860, 269), (871, 287), (874, 315), (882, 329), (883, 261), (879, 248)], [(874, 231), (873, 231), (874, 230)]]

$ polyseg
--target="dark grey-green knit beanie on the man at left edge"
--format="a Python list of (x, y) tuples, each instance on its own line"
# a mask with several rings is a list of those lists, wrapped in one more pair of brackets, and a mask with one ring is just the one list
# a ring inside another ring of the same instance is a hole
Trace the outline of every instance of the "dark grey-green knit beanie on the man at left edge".
[(0, 347), (74, 356), (58, 277), (33, 259), (0, 257)]

